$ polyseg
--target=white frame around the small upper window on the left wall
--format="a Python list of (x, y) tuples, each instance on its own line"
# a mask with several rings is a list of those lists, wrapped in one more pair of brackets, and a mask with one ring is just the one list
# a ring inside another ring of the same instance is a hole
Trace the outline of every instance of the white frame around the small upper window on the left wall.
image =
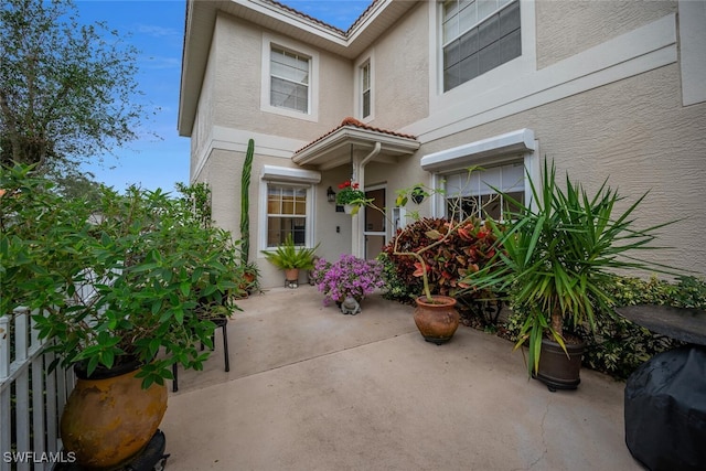
[[(295, 54), (309, 57), (309, 105), (308, 113), (301, 113), (296, 109), (272, 106), (270, 103), (270, 60), (272, 47), (282, 49)], [(260, 110), (272, 113), (275, 115), (288, 116), (290, 118), (304, 119), (308, 121), (319, 120), (319, 53), (301, 43), (289, 40), (284, 36), (263, 33), (263, 53), (261, 53), (261, 76), (260, 76)]]

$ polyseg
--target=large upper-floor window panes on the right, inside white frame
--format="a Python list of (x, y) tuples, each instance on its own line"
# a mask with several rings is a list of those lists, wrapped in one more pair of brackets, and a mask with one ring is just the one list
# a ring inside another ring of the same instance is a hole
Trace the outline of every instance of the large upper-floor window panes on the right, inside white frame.
[(520, 0), (449, 0), (441, 9), (443, 92), (522, 55)]

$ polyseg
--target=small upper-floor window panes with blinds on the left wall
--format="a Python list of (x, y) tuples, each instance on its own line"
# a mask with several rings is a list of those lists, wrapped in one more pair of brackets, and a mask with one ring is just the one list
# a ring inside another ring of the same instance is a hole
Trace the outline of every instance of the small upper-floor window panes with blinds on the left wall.
[(310, 57), (272, 46), (270, 51), (270, 105), (309, 113)]

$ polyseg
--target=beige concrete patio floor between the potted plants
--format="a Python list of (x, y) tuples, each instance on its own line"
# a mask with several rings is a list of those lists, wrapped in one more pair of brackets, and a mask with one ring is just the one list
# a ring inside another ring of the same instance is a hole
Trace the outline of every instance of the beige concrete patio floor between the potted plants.
[(411, 308), (363, 312), (315, 288), (238, 302), (203, 372), (179, 375), (160, 428), (169, 471), (641, 470), (624, 443), (623, 383), (584, 368), (574, 392), (528, 381), (512, 343), (459, 327), (427, 343)]

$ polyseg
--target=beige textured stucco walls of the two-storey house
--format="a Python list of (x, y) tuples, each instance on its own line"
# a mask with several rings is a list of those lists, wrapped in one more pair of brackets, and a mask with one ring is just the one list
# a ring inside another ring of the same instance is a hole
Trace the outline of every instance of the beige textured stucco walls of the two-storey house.
[[(649, 24), (674, 13), (673, 1), (581, 1), (542, 0), (536, 4), (537, 69), (544, 69), (589, 50), (607, 39)], [(246, 142), (208, 141), (211, 126), (232, 129), (233, 136), (248, 132), (286, 137), (307, 142), (338, 126), (353, 114), (355, 99), (353, 64), (366, 55), (374, 57), (375, 127), (397, 130), (429, 121), (429, 8), (420, 3), (405, 14), (355, 61), (319, 51), (319, 120), (317, 122), (265, 113), (260, 109), (260, 62), (263, 31), (242, 20), (220, 15), (206, 69), (204, 90), (192, 137), (192, 156), (210, 154), (200, 181), (213, 189), (214, 217), (238, 235), (239, 184)], [(267, 32), (267, 34), (277, 34)], [(233, 52), (237, 51), (238, 54)], [(414, 77), (414, 79), (410, 79)], [(432, 175), (420, 168), (421, 157), (431, 152), (499, 136), (521, 128), (534, 130), (539, 158), (554, 159), (560, 173), (596, 190), (606, 178), (613, 188), (634, 201), (650, 190), (638, 212), (639, 225), (646, 226), (685, 217), (664, 231), (661, 245), (674, 248), (648, 254), (671, 266), (706, 274), (706, 246), (702, 227), (706, 212), (698, 191), (706, 181), (706, 104), (683, 107), (677, 63), (576, 95), (546, 103), (470, 129), (425, 142), (414, 156), (399, 158), (396, 165), (372, 162), (365, 170), (366, 184), (387, 188), (387, 206), (394, 205), (395, 190), (415, 183), (431, 183)], [(246, 89), (247, 93), (239, 93)], [(478, 90), (483, 92), (483, 90)], [(443, 110), (440, 113), (440, 115)], [(204, 125), (200, 122), (204, 119)], [(441, 132), (443, 133), (443, 132)], [(239, 137), (237, 139), (240, 139)], [(259, 253), (259, 173), (263, 164), (296, 168), (289, 159), (258, 152), (250, 189), (250, 259), (261, 270), (264, 287), (280, 286), (284, 277)], [(291, 149), (293, 151), (296, 149)], [(193, 172), (193, 162), (192, 162)], [(335, 213), (325, 190), (350, 176), (347, 165), (321, 173), (314, 192), (314, 240), (318, 254), (335, 260), (351, 249), (351, 217)], [(421, 215), (431, 213), (429, 202)], [(624, 205), (623, 205), (624, 207)], [(306, 281), (306, 276), (300, 278)]]

